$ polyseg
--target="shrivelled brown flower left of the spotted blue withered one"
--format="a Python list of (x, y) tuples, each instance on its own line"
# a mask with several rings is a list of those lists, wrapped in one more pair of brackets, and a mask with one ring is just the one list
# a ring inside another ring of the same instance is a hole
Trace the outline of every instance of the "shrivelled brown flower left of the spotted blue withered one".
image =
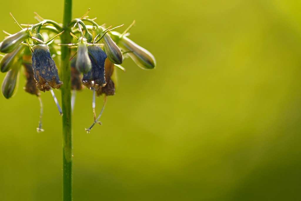
[[(31, 61), (31, 55), (24, 55), (24, 61)], [(29, 63), (23, 63), (24, 74), (26, 77), (26, 84), (24, 90), (30, 94), (40, 95), (39, 90), (36, 88), (36, 80), (33, 75), (33, 65)]]

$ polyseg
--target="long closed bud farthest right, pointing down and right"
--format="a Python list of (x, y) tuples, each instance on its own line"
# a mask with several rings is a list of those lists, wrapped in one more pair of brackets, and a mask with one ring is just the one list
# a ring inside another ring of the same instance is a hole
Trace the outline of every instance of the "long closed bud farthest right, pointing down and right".
[(128, 52), (133, 61), (143, 69), (152, 69), (156, 66), (155, 57), (141, 46), (138, 46), (135, 42), (128, 39), (126, 36), (119, 38), (120, 33), (113, 31), (110, 33), (112, 39), (117, 45), (124, 51)]

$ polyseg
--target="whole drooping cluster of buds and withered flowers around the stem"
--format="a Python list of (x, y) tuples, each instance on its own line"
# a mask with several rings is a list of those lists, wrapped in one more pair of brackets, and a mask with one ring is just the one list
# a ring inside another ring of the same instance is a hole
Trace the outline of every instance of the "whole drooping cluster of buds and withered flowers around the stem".
[[(26, 76), (24, 89), (38, 96), (40, 100), (41, 115), (38, 132), (43, 131), (42, 101), (39, 91), (51, 91), (59, 112), (63, 115), (52, 90), (52, 88), (59, 89), (64, 84), (59, 78), (58, 68), (54, 61), (60, 57), (60, 46), (76, 49), (70, 58), (72, 108), (76, 90), (82, 90), (83, 86), (86, 86), (93, 91), (94, 122), (86, 129), (87, 132), (95, 123), (100, 123), (98, 120), (104, 110), (107, 96), (115, 94), (116, 68), (125, 71), (120, 66), (124, 59), (132, 58), (143, 69), (155, 68), (154, 56), (127, 38), (128, 31), (134, 23), (123, 33), (118, 33), (113, 30), (123, 25), (115, 28), (99, 26), (94, 19), (88, 18), (87, 13), (81, 18), (73, 19), (68, 25), (74, 43), (61, 44), (60, 35), (65, 31), (61, 24), (53, 20), (45, 20), (37, 14), (36, 19), (39, 21), (37, 24), (19, 25), (15, 21), (21, 30), (12, 35), (7, 33), (9, 36), (0, 43), (0, 52), (6, 53), (2, 55), (0, 70), (3, 73), (7, 72), (2, 83), (2, 94), (7, 99), (13, 96), (18, 73), (23, 66)], [(97, 96), (104, 94), (104, 105), (98, 118), (95, 115), (95, 94)]]

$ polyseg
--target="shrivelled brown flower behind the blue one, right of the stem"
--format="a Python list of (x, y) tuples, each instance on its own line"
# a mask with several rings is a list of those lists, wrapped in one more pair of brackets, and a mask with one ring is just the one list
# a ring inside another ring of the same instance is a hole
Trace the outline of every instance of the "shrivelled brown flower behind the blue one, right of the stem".
[(114, 71), (114, 64), (106, 58), (106, 61), (104, 62), (104, 71), (106, 72), (105, 74), (105, 79), (106, 79), (106, 86), (100, 86), (98, 91), (96, 91), (97, 96), (100, 96), (101, 94), (106, 94), (107, 96), (113, 96), (115, 94), (115, 84), (113, 80), (111, 80), (111, 76), (113, 75)]

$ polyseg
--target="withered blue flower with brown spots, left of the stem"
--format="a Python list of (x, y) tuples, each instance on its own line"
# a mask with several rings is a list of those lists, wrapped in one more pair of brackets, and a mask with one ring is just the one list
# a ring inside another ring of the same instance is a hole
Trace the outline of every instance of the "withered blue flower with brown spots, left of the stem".
[(50, 56), (47, 44), (33, 46), (32, 61), (37, 89), (45, 92), (50, 90), (50, 86), (55, 89), (61, 87), (63, 82), (58, 77), (57, 67)]

